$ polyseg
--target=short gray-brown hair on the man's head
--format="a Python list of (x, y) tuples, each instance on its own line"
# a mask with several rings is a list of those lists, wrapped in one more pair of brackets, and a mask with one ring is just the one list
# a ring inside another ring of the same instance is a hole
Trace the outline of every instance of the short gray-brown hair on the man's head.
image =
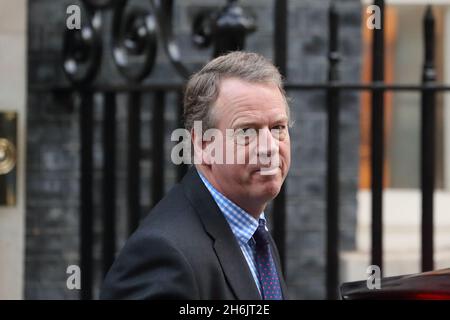
[(189, 79), (184, 94), (184, 126), (191, 131), (194, 121), (203, 130), (214, 127), (213, 105), (219, 96), (220, 81), (238, 78), (250, 83), (275, 84), (289, 105), (278, 69), (266, 58), (251, 52), (234, 51), (211, 60)]

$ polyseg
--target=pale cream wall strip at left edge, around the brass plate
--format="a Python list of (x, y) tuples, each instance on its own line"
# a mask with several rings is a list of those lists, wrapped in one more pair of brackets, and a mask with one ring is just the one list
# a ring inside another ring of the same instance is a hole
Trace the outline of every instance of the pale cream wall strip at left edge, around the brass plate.
[(0, 207), (0, 300), (23, 298), (25, 242), (26, 0), (0, 0), (0, 111), (18, 113), (18, 197)]

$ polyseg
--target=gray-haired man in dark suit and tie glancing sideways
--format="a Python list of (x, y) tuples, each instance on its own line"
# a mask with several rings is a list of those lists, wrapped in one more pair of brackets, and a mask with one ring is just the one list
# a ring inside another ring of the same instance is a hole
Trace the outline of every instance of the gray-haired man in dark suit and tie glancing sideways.
[(189, 80), (184, 117), (195, 166), (128, 240), (100, 297), (286, 299), (264, 216), (290, 166), (278, 70), (254, 53), (218, 57)]

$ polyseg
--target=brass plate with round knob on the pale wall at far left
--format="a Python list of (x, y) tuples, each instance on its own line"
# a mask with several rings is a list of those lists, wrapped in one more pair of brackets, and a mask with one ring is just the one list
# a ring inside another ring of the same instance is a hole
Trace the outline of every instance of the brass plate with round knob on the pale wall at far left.
[(17, 203), (17, 113), (0, 111), (0, 206)]

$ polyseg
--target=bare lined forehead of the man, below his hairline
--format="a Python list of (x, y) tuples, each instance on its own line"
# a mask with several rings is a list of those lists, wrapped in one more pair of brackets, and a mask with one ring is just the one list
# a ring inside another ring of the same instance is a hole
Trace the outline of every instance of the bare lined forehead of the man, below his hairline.
[(286, 101), (275, 84), (224, 79), (215, 105), (219, 122), (276, 121), (287, 118)]

